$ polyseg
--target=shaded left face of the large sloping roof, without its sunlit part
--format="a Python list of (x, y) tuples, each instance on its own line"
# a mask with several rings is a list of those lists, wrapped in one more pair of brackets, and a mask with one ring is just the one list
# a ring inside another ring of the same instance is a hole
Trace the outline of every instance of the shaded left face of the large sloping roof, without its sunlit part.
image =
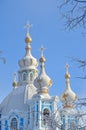
[(0, 109), (2, 114), (7, 114), (11, 110), (26, 109), (26, 104), (24, 104), (25, 87), (19, 87), (14, 89), (1, 103)]

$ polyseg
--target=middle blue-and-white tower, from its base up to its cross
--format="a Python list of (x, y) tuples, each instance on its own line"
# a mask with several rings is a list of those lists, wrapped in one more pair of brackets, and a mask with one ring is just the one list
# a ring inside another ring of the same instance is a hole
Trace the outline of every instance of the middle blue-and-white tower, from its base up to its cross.
[(35, 86), (37, 88), (37, 93), (33, 96), (31, 101), (31, 107), (33, 114), (30, 115), (32, 120), (30, 120), (34, 129), (37, 130), (53, 130), (56, 129), (54, 119), (59, 117), (58, 112), (58, 97), (52, 97), (49, 95), (49, 88), (52, 85), (51, 78), (47, 75), (45, 71), (44, 48), (41, 48), (42, 54), (40, 58), (40, 73), (35, 79)]

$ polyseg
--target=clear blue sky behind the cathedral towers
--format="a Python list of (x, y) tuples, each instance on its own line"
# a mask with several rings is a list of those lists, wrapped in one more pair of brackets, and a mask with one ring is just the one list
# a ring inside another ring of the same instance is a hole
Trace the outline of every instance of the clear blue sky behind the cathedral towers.
[(53, 80), (51, 95), (65, 89), (65, 65), (69, 63), (71, 87), (79, 97), (85, 97), (86, 80), (77, 79), (85, 75), (78, 64), (67, 57), (86, 59), (86, 37), (82, 29), (64, 30), (64, 20), (59, 15), (56, 0), (0, 0), (0, 49), (7, 62), (0, 62), (0, 101), (12, 91), (13, 74), (18, 71), (18, 60), (25, 54), (24, 25), (33, 24), (30, 30), (32, 54), (40, 58), (39, 48), (45, 50), (46, 71)]

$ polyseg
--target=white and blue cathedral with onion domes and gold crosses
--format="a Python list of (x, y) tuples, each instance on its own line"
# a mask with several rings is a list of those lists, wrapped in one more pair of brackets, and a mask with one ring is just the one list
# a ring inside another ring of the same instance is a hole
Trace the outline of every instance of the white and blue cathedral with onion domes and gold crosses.
[[(25, 56), (18, 61), (18, 81), (14, 74), (13, 90), (0, 104), (0, 130), (77, 130), (77, 95), (70, 86), (66, 65), (66, 88), (60, 97), (49, 94), (52, 80), (46, 73), (44, 48), (38, 61), (31, 53), (32, 38), (27, 25)], [(59, 108), (58, 103), (62, 103)]]

